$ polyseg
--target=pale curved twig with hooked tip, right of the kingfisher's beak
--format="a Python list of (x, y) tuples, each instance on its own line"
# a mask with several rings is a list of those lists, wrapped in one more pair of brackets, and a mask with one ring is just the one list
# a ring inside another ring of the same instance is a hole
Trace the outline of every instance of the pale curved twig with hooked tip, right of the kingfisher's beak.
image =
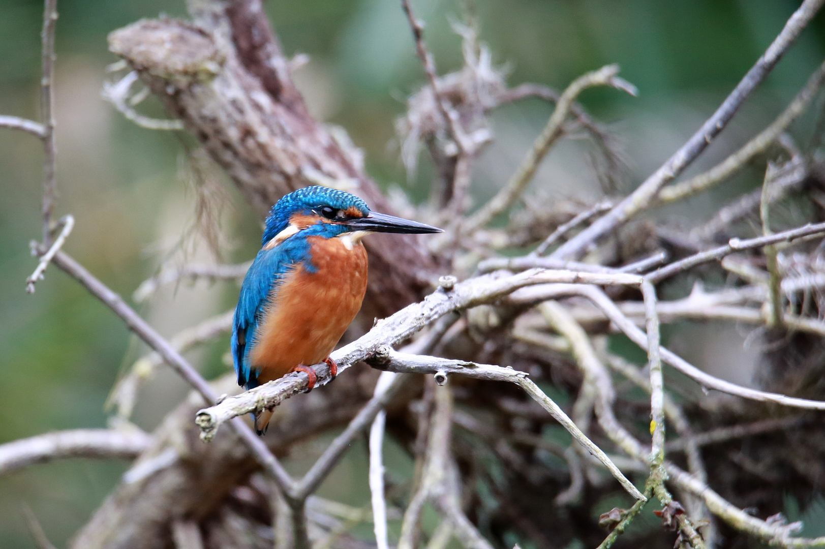
[(521, 164), (513, 173), (507, 184), (493, 196), (487, 204), (479, 208), (468, 220), (462, 225), (462, 231), (465, 234), (472, 233), (484, 225), (487, 225), (493, 218), (507, 211), (525, 191), (527, 185), (532, 181), (539, 164), (544, 159), (544, 156), (553, 147), (559, 137), (563, 135), (564, 121), (567, 120), (570, 108), (576, 101), (578, 95), (594, 86), (611, 86), (616, 89), (624, 90), (630, 95), (636, 95), (636, 88), (633, 84), (626, 82), (619, 78), (618, 65), (607, 65), (592, 73), (586, 73), (579, 78), (573, 80), (566, 90), (559, 97), (559, 102), (556, 103), (556, 108), (550, 116), (547, 125), (541, 135), (536, 138), (532, 149), (530, 149), (525, 158), (521, 160)]

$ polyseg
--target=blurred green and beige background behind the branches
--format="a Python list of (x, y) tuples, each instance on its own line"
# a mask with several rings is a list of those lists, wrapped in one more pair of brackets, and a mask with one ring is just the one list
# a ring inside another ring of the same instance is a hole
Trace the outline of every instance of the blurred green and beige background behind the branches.
[[(563, 88), (584, 71), (621, 65), (622, 76), (638, 86), (638, 98), (596, 90), (586, 92), (582, 102), (625, 143), (628, 184), (634, 185), (714, 110), (798, 5), (791, 0), (478, 0), (475, 9), (496, 64), (511, 66), (511, 85)], [(459, 68), (460, 40), (449, 20), (460, 19), (463, 4), (413, 0), (413, 6), (427, 21), (427, 44), (440, 71)], [(397, 183), (414, 200), (427, 196), (430, 170), (423, 167), (417, 180), (408, 182), (393, 144), (403, 98), (422, 83), (398, 2), (269, 0), (266, 9), (285, 51), (311, 56), (296, 79), (314, 114), (349, 130), (382, 186)], [(101, 99), (106, 65), (116, 60), (107, 51), (106, 34), (140, 17), (183, 16), (185, 8), (180, 0), (61, 0), (59, 13), (58, 211), (77, 220), (66, 249), (115, 291), (130, 296), (163, 259), (207, 261), (210, 253), (197, 239), (181, 246), (196, 200), (180, 176), (181, 140), (131, 124)], [(40, 2), (0, 0), (2, 114), (37, 120), (41, 17)], [(820, 16), (693, 169), (723, 158), (778, 114), (822, 62), (823, 35)], [(139, 108), (163, 116), (151, 100)], [(497, 142), (476, 170), (477, 201), (502, 184), (549, 112), (549, 106), (528, 101), (493, 116)], [(805, 124), (797, 127), (803, 137)], [(595, 194), (596, 177), (579, 149), (563, 144), (536, 184), (550, 196)], [(121, 370), (145, 352), (111, 312), (61, 272), (46, 272), (35, 295), (24, 291), (35, 267), (28, 243), (40, 234), (41, 161), (34, 137), (0, 130), (0, 443), (55, 429), (106, 426), (106, 395)], [(755, 171), (740, 179), (739, 188), (756, 185), (760, 176)], [(220, 215), (221, 259), (245, 261), (257, 249), (259, 221), (226, 187), (231, 201)], [(724, 196), (730, 192), (697, 198), (671, 212), (702, 215)], [(182, 286), (139, 310), (172, 335), (229, 310), (236, 292), (231, 284)], [(222, 338), (191, 358), (210, 376), (225, 372), (221, 357), (227, 341)], [(719, 353), (730, 352), (728, 347), (720, 344)], [(747, 372), (732, 376), (747, 381)], [(141, 393), (135, 422), (153, 428), (184, 392), (180, 381), (162, 373)], [(398, 458), (390, 460), (390, 470), (406, 475), (409, 463), (400, 452), (393, 455)], [(363, 453), (342, 468), (350, 472), (340, 479), (363, 478)], [(64, 547), (124, 470), (119, 462), (63, 461), (0, 479), (0, 545), (35, 547), (21, 520), (21, 505), (29, 504), (52, 542)], [(351, 504), (368, 502), (365, 482), (329, 490)]]

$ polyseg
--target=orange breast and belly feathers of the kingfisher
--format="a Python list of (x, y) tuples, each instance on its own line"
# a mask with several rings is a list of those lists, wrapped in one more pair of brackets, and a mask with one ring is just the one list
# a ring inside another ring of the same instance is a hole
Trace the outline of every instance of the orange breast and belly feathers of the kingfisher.
[(316, 272), (303, 265), (287, 275), (271, 296), (252, 347), (252, 367), (265, 383), (299, 364), (322, 362), (361, 309), (367, 256), (361, 242), (310, 236)]

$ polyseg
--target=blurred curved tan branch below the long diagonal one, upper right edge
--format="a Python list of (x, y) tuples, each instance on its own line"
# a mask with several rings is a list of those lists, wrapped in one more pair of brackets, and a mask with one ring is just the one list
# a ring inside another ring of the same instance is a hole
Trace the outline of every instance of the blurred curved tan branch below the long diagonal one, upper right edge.
[(802, 88), (802, 91), (794, 97), (794, 101), (790, 102), (785, 107), (785, 111), (776, 118), (765, 130), (762, 130), (759, 135), (748, 141), (741, 149), (728, 156), (721, 163), (710, 168), (705, 173), (700, 173), (695, 177), (691, 177), (684, 182), (678, 182), (670, 187), (664, 187), (658, 194), (658, 201), (671, 202), (681, 200), (686, 196), (692, 196), (697, 192), (707, 190), (709, 187), (724, 181), (732, 176), (739, 169), (747, 165), (757, 154), (761, 154), (768, 149), (779, 136), (782, 135), (791, 122), (799, 118), (813, 97), (817, 90), (825, 80), (825, 64), (820, 65), (810, 78), (808, 83)]

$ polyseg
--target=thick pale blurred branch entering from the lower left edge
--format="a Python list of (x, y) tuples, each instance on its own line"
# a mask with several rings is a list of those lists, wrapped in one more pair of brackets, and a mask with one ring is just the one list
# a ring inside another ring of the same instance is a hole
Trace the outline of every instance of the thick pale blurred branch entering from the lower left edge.
[(134, 459), (148, 447), (150, 440), (148, 434), (137, 429), (75, 429), (21, 438), (0, 444), (0, 476), (34, 463), (68, 457)]

